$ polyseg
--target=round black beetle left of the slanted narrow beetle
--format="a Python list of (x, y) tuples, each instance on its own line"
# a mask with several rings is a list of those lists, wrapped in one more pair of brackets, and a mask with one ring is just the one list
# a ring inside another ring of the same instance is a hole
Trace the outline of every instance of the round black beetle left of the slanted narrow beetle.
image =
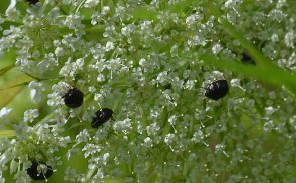
[(83, 93), (77, 88), (71, 88), (62, 98), (69, 108), (78, 108), (83, 103)]

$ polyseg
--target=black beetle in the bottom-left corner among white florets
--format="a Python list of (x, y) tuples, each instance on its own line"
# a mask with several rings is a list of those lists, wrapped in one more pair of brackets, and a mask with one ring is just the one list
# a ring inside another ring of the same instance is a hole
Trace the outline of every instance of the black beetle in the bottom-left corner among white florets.
[(43, 172), (38, 172), (37, 167), (39, 164), (43, 164), (46, 165), (46, 163), (44, 162), (39, 162), (37, 163), (35, 160), (32, 162), (32, 165), (30, 168), (28, 168), (27, 174), (29, 175), (30, 178), (32, 178), (33, 180), (46, 180), (48, 178), (50, 178), (53, 175), (53, 169), (51, 166), (47, 166), (47, 171), (44, 174)]

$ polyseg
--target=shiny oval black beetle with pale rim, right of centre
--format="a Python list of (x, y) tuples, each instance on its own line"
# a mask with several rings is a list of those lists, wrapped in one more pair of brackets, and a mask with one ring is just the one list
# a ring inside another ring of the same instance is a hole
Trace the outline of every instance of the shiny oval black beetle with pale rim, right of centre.
[(228, 92), (228, 84), (224, 79), (216, 80), (212, 82), (207, 88), (205, 92), (205, 96), (213, 99), (219, 100), (223, 98)]

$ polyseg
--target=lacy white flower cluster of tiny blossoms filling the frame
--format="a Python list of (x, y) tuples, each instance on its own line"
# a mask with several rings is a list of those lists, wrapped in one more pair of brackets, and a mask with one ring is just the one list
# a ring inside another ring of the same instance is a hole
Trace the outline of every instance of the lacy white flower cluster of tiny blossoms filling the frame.
[[(0, 15), (11, 24), (0, 54), (15, 52), (15, 67), (32, 77), (32, 102), (51, 111), (30, 107), (12, 125), (14, 111), (0, 110), (0, 126), (14, 130), (0, 139), (0, 182), (8, 166), (16, 182), (30, 182), (33, 160), (70, 182), (296, 182), (294, 97), (200, 58), (245, 57), (209, 1), (26, 2), (37, 3), (23, 12), (15, 1)], [(296, 71), (291, 1), (210, 2), (266, 57)], [(219, 79), (229, 92), (211, 100), (204, 92)], [(69, 109), (74, 87), (84, 100)], [(101, 107), (115, 120), (93, 129)], [(59, 166), (77, 157), (87, 165)]]

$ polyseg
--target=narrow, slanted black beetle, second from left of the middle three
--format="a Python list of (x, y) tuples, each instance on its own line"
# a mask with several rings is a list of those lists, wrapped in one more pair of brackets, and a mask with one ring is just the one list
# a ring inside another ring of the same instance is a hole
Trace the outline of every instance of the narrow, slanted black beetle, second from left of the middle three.
[(95, 113), (95, 117), (92, 118), (91, 127), (98, 128), (103, 123), (107, 122), (109, 119), (114, 120), (113, 118), (113, 111), (109, 108), (102, 108)]

